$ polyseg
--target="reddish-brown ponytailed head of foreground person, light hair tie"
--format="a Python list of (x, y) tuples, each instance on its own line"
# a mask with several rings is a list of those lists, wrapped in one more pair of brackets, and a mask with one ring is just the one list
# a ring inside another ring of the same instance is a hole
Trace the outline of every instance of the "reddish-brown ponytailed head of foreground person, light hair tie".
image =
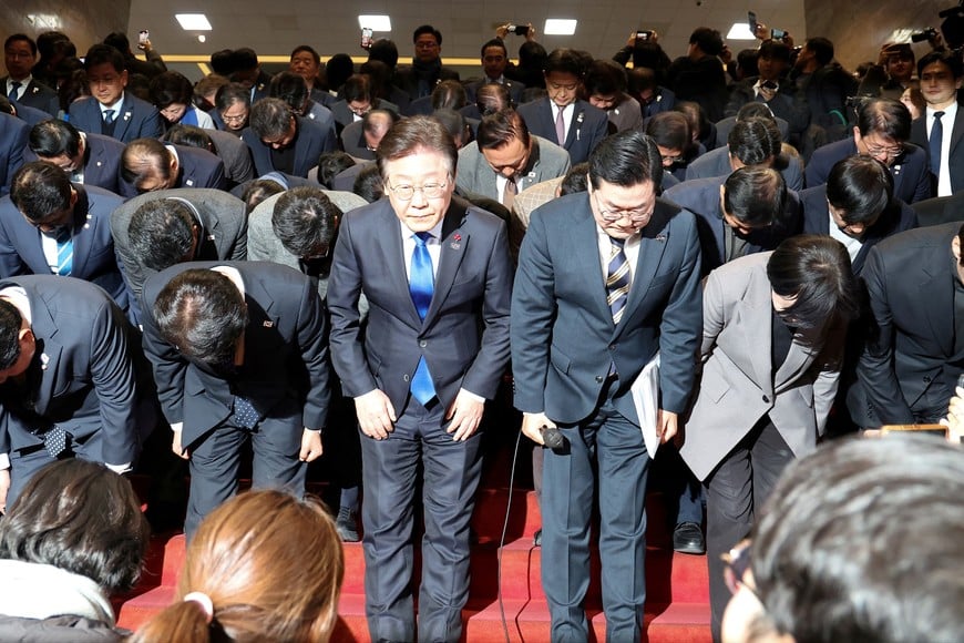
[(319, 501), (276, 490), (242, 493), (201, 523), (178, 602), (130, 641), (324, 643), (338, 618), (343, 574), (341, 541)]

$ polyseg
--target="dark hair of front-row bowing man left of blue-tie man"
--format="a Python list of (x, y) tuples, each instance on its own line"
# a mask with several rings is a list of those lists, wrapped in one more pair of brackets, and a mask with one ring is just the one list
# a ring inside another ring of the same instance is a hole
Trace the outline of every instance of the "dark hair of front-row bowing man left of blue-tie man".
[(216, 370), (232, 370), (248, 313), (228, 277), (192, 268), (162, 288), (154, 302), (154, 318), (164, 340), (184, 356)]

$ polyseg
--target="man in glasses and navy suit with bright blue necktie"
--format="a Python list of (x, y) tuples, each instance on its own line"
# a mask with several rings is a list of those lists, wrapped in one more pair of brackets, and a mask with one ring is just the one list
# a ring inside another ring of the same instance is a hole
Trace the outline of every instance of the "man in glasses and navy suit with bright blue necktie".
[[(372, 641), (459, 641), (469, 598), (478, 430), (509, 361), (512, 264), (505, 224), (452, 195), (457, 160), (437, 120), (399, 122), (378, 147), (388, 198), (345, 216), (328, 282), (331, 359), (362, 433)], [(416, 633), (420, 462), (425, 530)]]

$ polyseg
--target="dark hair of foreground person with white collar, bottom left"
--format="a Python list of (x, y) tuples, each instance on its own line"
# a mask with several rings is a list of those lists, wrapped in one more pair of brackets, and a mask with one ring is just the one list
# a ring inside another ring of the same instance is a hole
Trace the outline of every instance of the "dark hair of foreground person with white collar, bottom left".
[(151, 529), (131, 483), (70, 458), (34, 476), (0, 521), (0, 558), (86, 576), (107, 593), (141, 576)]

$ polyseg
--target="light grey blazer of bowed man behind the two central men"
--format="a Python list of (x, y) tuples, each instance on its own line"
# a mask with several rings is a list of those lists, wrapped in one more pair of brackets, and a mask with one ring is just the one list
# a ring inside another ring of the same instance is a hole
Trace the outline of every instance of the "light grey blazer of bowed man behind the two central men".
[[(526, 187), (565, 176), (570, 171), (570, 153), (551, 141), (541, 136), (532, 136), (532, 155), (529, 166), (522, 172), (522, 183), (519, 192)], [(459, 150), (459, 170), (455, 185), (463, 192), (472, 192), (489, 198), (499, 198), (495, 185), (496, 174), (479, 150), (479, 143), (471, 142)]]

